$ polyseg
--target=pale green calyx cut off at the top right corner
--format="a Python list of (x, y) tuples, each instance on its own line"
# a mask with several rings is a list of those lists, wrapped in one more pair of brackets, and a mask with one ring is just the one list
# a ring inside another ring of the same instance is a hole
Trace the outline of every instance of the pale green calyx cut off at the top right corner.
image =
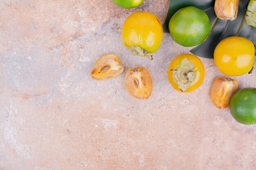
[(256, 28), (256, 1), (251, 0), (246, 12), (246, 24)]

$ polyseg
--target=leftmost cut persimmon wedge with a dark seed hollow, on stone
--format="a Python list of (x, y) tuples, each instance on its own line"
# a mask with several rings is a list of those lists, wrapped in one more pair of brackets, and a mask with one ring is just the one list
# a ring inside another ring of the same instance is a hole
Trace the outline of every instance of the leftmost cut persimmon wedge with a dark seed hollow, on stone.
[(110, 79), (117, 77), (123, 73), (123, 71), (124, 67), (119, 58), (115, 54), (107, 54), (99, 58), (94, 64), (91, 77), (97, 80)]

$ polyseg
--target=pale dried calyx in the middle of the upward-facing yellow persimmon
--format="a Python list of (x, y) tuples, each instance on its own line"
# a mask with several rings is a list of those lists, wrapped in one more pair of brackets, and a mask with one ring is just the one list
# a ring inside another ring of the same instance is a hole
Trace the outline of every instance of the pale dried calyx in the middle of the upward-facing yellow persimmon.
[(187, 58), (184, 58), (180, 65), (177, 66), (173, 72), (173, 79), (177, 83), (181, 91), (185, 91), (191, 86), (191, 82), (195, 79), (194, 64), (189, 62)]

